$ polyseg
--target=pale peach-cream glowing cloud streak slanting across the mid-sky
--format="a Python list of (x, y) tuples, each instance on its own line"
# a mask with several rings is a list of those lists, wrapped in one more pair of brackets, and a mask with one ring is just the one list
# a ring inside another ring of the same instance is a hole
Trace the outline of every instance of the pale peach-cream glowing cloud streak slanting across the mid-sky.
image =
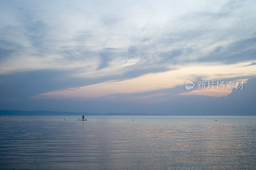
[[(218, 66), (202, 66), (195, 65), (187, 68), (180, 67), (174, 70), (168, 70), (164, 72), (158, 73), (150, 73), (146, 75), (142, 75), (137, 78), (131, 78), (128, 80), (115, 80), (111, 82), (103, 82), (94, 85), (87, 85), (76, 88), (77, 93), (74, 92), (73, 88), (63, 89), (61, 91), (52, 91), (44, 94), (40, 94), (35, 96), (35, 98), (40, 98), (43, 96), (48, 96), (46, 98), (55, 98), (55, 99), (71, 99), (82, 97), (86, 98), (97, 98), (108, 95), (116, 95), (116, 94), (130, 94), (130, 93), (141, 93), (148, 92), (154, 90), (168, 89), (173, 88), (177, 85), (184, 85), (185, 81), (191, 77), (196, 79), (198, 76), (206, 79), (207, 81), (213, 81), (217, 78), (229, 78), (229, 80), (236, 80), (237, 75), (240, 74), (245, 76), (255, 75), (256, 67), (244, 68), (244, 63), (234, 64), (234, 65), (218, 65)], [(241, 70), (243, 69), (243, 70)], [(202, 74), (204, 70), (212, 70), (211, 72), (207, 72)], [(225, 70), (225, 74), (223, 73)], [(193, 73), (193, 74), (188, 74)], [(200, 91), (202, 92), (202, 91)], [(204, 91), (204, 95), (210, 95), (212, 91)], [(207, 93), (208, 92), (208, 93)], [(228, 92), (223, 93), (223, 95), (228, 94)], [(216, 94), (217, 95), (217, 94)], [(222, 96), (222, 95), (221, 95)]]

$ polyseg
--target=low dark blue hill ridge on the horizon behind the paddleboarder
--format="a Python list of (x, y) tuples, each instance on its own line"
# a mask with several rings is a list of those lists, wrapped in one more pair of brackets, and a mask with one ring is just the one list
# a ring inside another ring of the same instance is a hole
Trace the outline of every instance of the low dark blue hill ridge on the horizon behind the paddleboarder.
[(1, 116), (162, 116), (163, 114), (143, 114), (143, 113), (86, 113), (86, 112), (56, 112), (56, 111), (22, 111), (22, 110), (0, 110)]

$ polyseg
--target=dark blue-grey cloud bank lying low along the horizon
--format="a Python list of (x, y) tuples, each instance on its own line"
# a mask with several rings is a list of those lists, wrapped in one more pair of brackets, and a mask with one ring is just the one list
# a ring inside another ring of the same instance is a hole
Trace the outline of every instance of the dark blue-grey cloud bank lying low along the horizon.
[[(18, 102), (2, 103), (3, 105), (1, 108), (91, 113), (129, 112), (151, 114), (162, 113), (169, 115), (255, 115), (255, 79), (256, 78), (247, 80), (247, 83), (244, 84), (242, 90), (234, 91), (231, 93), (232, 95), (230, 94), (228, 97), (200, 95), (173, 96), (173, 94), (185, 90), (184, 85), (182, 85), (170, 89), (141, 93), (141, 96), (133, 93), (119, 96), (116, 95), (114, 98), (107, 96), (97, 99), (92, 98), (90, 100), (36, 99), (29, 100), (29, 103), (26, 100), (20, 100)], [(124, 100), (125, 98), (126, 100)], [(45, 109), (46, 107), (47, 109)]]

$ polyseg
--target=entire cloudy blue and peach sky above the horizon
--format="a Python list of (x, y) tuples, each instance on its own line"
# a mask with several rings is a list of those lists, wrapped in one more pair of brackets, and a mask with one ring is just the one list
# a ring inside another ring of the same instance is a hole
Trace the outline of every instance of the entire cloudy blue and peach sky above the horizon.
[(0, 110), (256, 115), (255, 9), (253, 0), (1, 0)]

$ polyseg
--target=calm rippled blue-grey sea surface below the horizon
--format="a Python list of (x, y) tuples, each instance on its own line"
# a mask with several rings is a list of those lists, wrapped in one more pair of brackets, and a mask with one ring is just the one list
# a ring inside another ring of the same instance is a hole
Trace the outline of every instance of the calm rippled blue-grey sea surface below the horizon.
[(0, 116), (0, 168), (256, 167), (256, 116), (78, 119), (81, 116)]

